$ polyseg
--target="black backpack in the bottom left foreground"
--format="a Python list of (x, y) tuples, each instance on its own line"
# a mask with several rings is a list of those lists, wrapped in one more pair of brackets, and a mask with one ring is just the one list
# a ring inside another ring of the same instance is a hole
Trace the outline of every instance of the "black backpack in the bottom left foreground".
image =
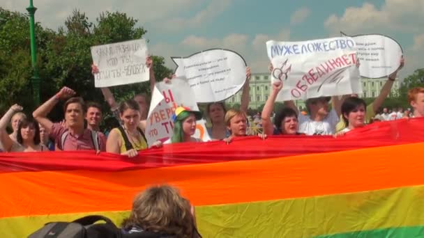
[[(105, 223), (94, 224), (98, 221)], [(28, 238), (165, 238), (155, 232), (124, 234), (120, 228), (105, 216), (84, 216), (72, 222), (47, 223), (29, 235)]]

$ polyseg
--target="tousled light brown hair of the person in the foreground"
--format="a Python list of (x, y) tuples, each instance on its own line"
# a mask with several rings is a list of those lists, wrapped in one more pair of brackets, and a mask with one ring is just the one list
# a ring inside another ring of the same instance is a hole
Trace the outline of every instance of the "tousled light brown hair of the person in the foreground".
[(150, 187), (135, 196), (130, 217), (122, 227), (138, 226), (145, 231), (176, 237), (197, 237), (190, 202), (169, 185)]

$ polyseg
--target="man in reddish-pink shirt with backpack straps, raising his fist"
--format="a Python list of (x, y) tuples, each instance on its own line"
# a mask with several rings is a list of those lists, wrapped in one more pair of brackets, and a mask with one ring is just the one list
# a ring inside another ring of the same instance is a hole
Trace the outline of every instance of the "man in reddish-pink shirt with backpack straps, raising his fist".
[[(106, 137), (101, 132), (84, 128), (86, 104), (81, 97), (73, 97), (75, 91), (63, 87), (50, 100), (33, 111), (40, 125), (50, 131), (50, 138), (56, 141), (59, 150), (95, 150), (96, 153), (106, 151)], [(70, 97), (70, 98), (69, 98)], [(47, 114), (60, 101), (69, 98), (63, 105), (66, 127), (60, 123), (53, 123)]]

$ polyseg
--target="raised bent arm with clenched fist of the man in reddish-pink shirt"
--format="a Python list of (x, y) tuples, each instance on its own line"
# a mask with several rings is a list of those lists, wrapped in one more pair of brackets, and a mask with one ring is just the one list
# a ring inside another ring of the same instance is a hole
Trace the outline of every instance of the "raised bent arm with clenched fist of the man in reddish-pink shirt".
[(68, 97), (72, 97), (75, 95), (75, 91), (68, 88), (63, 87), (59, 93), (56, 93), (50, 100), (47, 100), (47, 102), (43, 103), (41, 106), (38, 106), (38, 109), (36, 111), (33, 111), (32, 116), (34, 119), (36, 119), (43, 127), (45, 127), (48, 130), (52, 129), (53, 122), (47, 118), (47, 114), (52, 111), (54, 106), (59, 102), (59, 100), (66, 99)]

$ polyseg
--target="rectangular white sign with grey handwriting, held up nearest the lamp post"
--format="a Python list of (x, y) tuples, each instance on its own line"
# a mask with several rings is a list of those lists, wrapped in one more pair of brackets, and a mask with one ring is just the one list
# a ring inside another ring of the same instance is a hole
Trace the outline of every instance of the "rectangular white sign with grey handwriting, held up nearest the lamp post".
[(91, 47), (93, 64), (99, 71), (94, 75), (94, 86), (103, 88), (149, 81), (147, 56), (144, 39)]

